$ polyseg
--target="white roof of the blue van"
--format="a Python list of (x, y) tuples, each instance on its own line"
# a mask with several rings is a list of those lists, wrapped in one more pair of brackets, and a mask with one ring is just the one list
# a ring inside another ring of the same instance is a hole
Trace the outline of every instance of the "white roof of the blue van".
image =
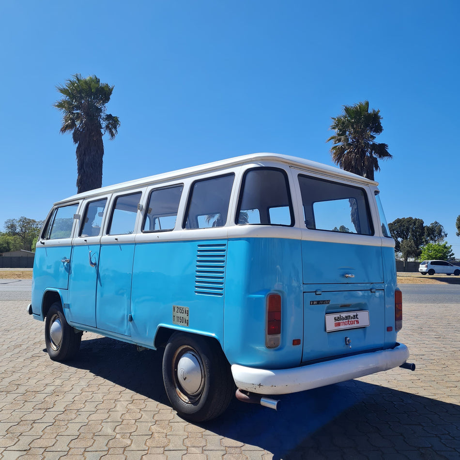
[[(285, 165), (292, 166), (294, 168), (306, 169), (311, 172), (326, 174), (338, 179), (346, 179), (349, 181), (367, 184), (367, 185), (378, 185), (377, 182), (371, 181), (364, 177), (358, 176), (343, 169), (334, 168), (333, 166), (323, 165), (316, 161), (306, 160), (304, 158), (297, 158), (295, 156), (281, 155), (279, 153), (251, 153), (249, 155), (236, 156), (234, 158), (228, 158), (226, 160), (214, 161), (212, 163), (206, 163), (203, 165), (193, 166), (191, 168), (178, 169), (176, 171), (165, 172), (161, 174), (156, 174), (153, 176), (143, 177), (141, 179), (135, 179), (128, 182), (122, 182), (120, 184), (107, 185), (105, 187), (96, 188), (94, 190), (89, 190), (87, 192), (79, 193), (73, 195), (66, 199), (62, 199), (57, 203), (62, 201), (72, 201), (76, 199), (82, 199), (86, 197), (91, 197), (95, 195), (102, 195), (111, 193), (114, 191), (128, 190), (131, 188), (139, 188), (149, 184), (170, 182), (176, 179), (181, 179), (188, 176), (193, 176), (198, 173), (207, 173), (214, 170), (226, 169), (232, 166), (239, 166), (244, 164), (251, 163), (260, 163), (263, 166), (267, 162), (278, 162)], [(55, 204), (57, 204), (55, 203)]]

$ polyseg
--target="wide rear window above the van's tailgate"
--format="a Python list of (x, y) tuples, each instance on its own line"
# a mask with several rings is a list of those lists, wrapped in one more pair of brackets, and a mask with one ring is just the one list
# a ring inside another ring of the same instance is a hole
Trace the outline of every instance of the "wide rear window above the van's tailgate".
[(373, 235), (368, 199), (362, 188), (302, 174), (299, 184), (308, 229)]

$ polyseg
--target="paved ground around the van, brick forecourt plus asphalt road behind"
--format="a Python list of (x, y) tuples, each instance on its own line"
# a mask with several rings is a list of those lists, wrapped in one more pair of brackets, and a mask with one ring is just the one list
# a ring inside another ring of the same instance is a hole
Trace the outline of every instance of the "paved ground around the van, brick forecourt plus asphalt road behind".
[(1, 460), (460, 458), (460, 286), (402, 286), (415, 372), (284, 396), (278, 413), (234, 400), (194, 425), (168, 405), (159, 353), (88, 333), (75, 361), (49, 360), (30, 283), (0, 280)]

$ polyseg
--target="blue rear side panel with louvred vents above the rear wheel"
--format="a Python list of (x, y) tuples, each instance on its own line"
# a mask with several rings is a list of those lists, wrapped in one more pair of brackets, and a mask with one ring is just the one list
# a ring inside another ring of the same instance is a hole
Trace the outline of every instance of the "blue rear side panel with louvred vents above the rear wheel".
[[(226, 240), (177, 241), (136, 245), (131, 335), (153, 347), (159, 326), (216, 337), (223, 344)], [(212, 267), (211, 288), (199, 278), (200, 256), (206, 251)], [(198, 279), (201, 281), (198, 282)], [(173, 305), (189, 308), (189, 325), (172, 323)]]

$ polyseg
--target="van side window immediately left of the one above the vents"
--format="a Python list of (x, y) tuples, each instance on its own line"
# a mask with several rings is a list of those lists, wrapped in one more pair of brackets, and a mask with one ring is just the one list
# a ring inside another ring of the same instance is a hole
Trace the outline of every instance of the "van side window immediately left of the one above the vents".
[(142, 231), (166, 231), (174, 229), (177, 210), (184, 185), (157, 188), (150, 192), (149, 207)]

